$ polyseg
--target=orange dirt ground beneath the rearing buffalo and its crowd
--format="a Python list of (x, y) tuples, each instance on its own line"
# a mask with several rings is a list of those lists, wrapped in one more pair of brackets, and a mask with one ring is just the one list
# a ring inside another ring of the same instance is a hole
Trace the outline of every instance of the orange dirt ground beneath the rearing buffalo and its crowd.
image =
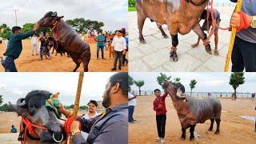
[[(22, 54), (18, 59), (15, 60), (16, 67), (19, 72), (29, 71), (29, 72), (70, 72), (74, 70), (75, 63), (72, 61), (72, 58), (68, 58), (66, 56), (62, 56), (58, 54), (55, 56), (54, 54), (50, 54), (50, 59), (43, 59), (42, 61), (39, 61), (39, 55), (32, 56), (31, 54), (31, 43), (30, 39), (26, 39), (22, 41)], [(0, 57), (2, 57), (2, 54), (6, 52), (6, 47), (4, 44), (0, 44)], [(52, 50), (50, 50), (50, 53)], [(105, 51), (105, 58), (100, 58), (97, 60), (97, 53), (96, 53), (96, 44), (90, 44), (90, 52), (91, 52), (91, 58), (89, 63), (89, 71), (96, 71), (96, 72), (107, 72), (111, 71), (111, 68), (113, 67), (113, 58), (109, 58), (109, 51)], [(101, 53), (101, 52), (100, 52)], [(101, 57), (101, 54), (100, 54)], [(127, 56), (126, 56), (127, 57)], [(2, 65), (0, 65), (0, 72), (4, 71), (4, 68)], [(83, 66), (78, 68), (77, 71), (83, 71)], [(128, 66), (122, 67), (122, 70), (118, 71), (128, 71)]]

